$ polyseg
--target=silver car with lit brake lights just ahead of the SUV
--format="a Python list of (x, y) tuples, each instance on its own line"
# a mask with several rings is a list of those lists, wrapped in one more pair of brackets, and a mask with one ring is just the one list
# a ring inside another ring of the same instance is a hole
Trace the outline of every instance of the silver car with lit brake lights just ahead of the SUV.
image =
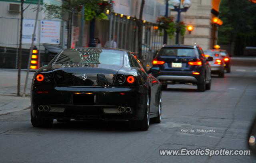
[(204, 56), (213, 57), (213, 61), (210, 61), (212, 74), (217, 74), (219, 77), (223, 78), (225, 73), (225, 62), (223, 57), (220, 55), (219, 51), (207, 50), (204, 51)]

